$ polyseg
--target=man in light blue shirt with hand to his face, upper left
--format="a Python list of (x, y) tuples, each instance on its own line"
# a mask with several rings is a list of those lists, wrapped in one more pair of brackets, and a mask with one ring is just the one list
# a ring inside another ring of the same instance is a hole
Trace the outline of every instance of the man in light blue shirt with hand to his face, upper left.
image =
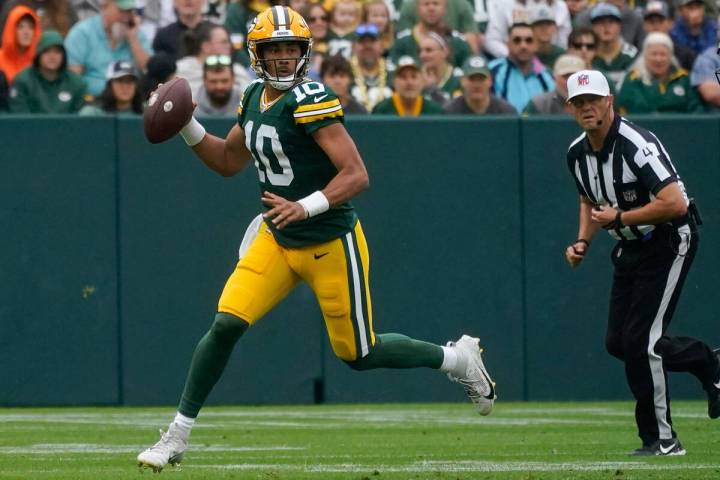
[(114, 62), (145, 69), (152, 50), (135, 7), (135, 0), (104, 0), (102, 13), (76, 23), (65, 39), (68, 68), (82, 75), (93, 96), (105, 88), (105, 72)]

